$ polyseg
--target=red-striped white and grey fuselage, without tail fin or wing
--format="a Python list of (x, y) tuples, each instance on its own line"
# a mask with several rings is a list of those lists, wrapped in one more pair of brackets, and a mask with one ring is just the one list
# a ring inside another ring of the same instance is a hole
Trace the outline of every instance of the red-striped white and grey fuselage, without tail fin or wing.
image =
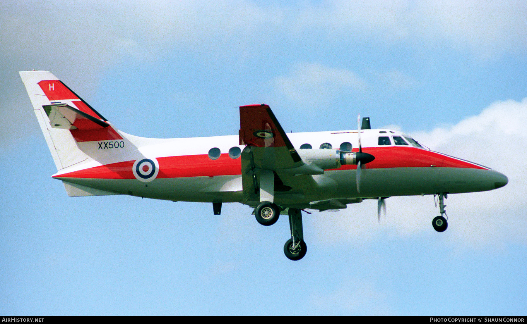
[[(295, 197), (296, 205), (309, 206), (311, 201), (335, 198), (467, 193), (499, 188), (508, 181), (501, 173), (469, 161), (411, 143), (396, 145), (393, 136), (408, 137), (399, 131), (361, 131), (363, 151), (375, 156), (375, 160), (363, 170), (360, 193), (355, 184), (357, 166), (343, 165), (327, 169), (323, 175), (313, 175), (320, 184), (319, 190)], [(379, 134), (380, 131), (384, 133)], [(92, 160), (64, 168), (53, 177), (116, 194), (173, 201), (243, 202), (241, 157), (229, 156), (232, 147), (243, 149), (238, 145), (238, 136), (151, 139), (118, 133), (121, 139), (78, 143)], [(379, 135), (388, 137), (391, 145), (378, 145)], [(356, 130), (289, 133), (287, 136), (295, 147), (310, 144), (318, 148), (329, 143), (338, 148), (344, 142), (357, 143)], [(219, 158), (209, 157), (212, 148), (220, 150)], [(297, 149), (300, 156), (302, 150)], [(138, 172), (134, 164), (143, 159), (153, 161), (154, 166), (146, 161), (146, 165), (139, 166)], [(139, 176), (141, 172), (144, 178)], [(290, 200), (288, 195), (287, 191), (276, 193), (275, 203), (280, 205), (281, 200), (286, 203)]]

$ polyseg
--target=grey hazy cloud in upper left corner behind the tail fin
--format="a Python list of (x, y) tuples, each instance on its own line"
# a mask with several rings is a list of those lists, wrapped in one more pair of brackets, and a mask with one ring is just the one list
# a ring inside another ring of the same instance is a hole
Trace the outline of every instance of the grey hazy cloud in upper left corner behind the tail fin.
[(0, 98), (0, 117), (11, 120), (0, 129), (3, 139), (30, 135), (18, 125), (34, 120), (29, 109), (19, 113), (29, 104), (19, 70), (50, 70), (89, 100), (104, 68), (125, 56), (149, 63), (170, 47), (214, 53), (280, 19), (274, 9), (243, 0), (12, 1), (2, 2), (0, 12), (0, 83), (14, 89)]

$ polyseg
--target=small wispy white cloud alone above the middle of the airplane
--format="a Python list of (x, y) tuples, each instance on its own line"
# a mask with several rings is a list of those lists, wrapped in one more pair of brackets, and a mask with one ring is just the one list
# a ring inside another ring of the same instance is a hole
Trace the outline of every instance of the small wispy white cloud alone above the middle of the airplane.
[(319, 63), (298, 64), (288, 76), (277, 77), (272, 83), (292, 102), (310, 105), (328, 102), (330, 96), (346, 90), (365, 87), (356, 73)]

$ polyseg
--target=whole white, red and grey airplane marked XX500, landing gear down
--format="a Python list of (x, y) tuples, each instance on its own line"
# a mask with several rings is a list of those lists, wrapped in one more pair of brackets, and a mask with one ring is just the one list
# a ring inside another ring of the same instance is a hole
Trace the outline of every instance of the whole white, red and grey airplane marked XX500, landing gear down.
[[(398, 130), (357, 129), (286, 134), (270, 107), (240, 106), (238, 135), (144, 138), (126, 134), (52, 73), (19, 72), (67, 195), (130, 195), (254, 208), (265, 226), (288, 215), (290, 260), (306, 255), (302, 211), (344, 209), (377, 200), (377, 217), (392, 196), (434, 195), (446, 230), (448, 194), (493, 190), (508, 178), (423, 147)], [(310, 212), (309, 212), (310, 213)]]

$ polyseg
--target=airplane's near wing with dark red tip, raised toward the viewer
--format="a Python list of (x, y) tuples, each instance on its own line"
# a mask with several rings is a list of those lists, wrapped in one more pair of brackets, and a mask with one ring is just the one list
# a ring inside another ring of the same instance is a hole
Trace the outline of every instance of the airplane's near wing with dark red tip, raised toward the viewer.
[[(268, 105), (240, 107), (243, 200), (302, 200), (317, 186), (311, 175), (323, 169), (306, 165)], [(298, 176), (299, 175), (299, 176)], [(263, 191), (261, 189), (264, 189)]]

